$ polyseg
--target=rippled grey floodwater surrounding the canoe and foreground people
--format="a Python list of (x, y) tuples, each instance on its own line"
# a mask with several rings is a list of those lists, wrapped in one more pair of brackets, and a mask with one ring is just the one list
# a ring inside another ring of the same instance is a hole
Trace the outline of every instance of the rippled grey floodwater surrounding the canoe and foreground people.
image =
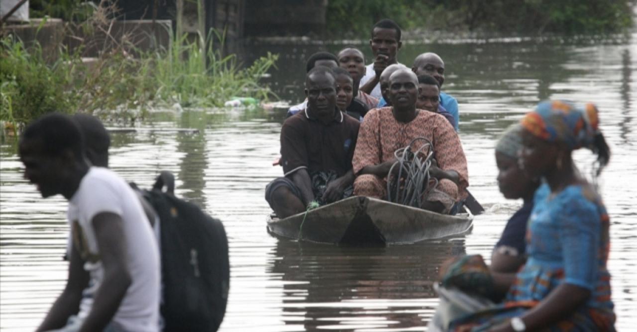
[[(320, 47), (251, 49), (282, 54), (271, 84), (279, 96), (298, 100), (304, 57)], [(366, 43), (361, 48), (369, 53)], [(231, 289), (222, 331), (422, 331), (438, 303), (432, 284), (441, 262), (463, 252), (489, 257), (506, 220), (520, 206), (497, 191), (497, 135), (541, 99), (594, 101), (613, 152), (599, 184), (612, 220), (608, 267), (617, 328), (634, 330), (637, 33), (603, 40), (413, 41), (404, 45), (399, 61), (411, 64), (425, 51), (437, 52), (447, 63), (443, 90), (460, 103), (470, 189), (487, 209), (466, 235), (374, 249), (268, 235), (264, 187), (281, 175), (271, 162), (278, 156), (282, 115), (262, 110), (156, 115), (136, 124), (137, 131), (112, 134), (111, 167), (144, 188), (160, 170), (173, 171), (178, 196), (197, 201), (223, 220)], [(157, 130), (176, 128), (199, 132)], [(64, 286), (66, 201), (60, 196), (41, 199), (25, 182), (15, 141), (3, 141), (0, 156), (0, 326), (2, 331), (25, 331), (39, 324)], [(584, 171), (590, 170), (590, 152), (577, 152), (576, 159)]]

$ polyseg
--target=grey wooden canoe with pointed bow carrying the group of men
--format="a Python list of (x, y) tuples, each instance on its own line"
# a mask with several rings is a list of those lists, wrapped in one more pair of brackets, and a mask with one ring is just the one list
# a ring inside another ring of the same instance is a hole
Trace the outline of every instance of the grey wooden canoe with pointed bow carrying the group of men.
[(344, 245), (397, 245), (463, 233), (468, 213), (443, 215), (381, 199), (354, 196), (285, 219), (271, 217), (269, 233), (282, 238)]

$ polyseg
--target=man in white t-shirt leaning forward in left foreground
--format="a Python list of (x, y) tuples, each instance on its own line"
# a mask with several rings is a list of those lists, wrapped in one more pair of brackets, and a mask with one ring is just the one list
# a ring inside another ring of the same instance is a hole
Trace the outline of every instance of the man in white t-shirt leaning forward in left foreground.
[[(91, 167), (75, 122), (52, 113), (35, 120), (19, 143), (24, 177), (44, 198), (69, 200), (69, 278), (37, 331), (155, 332), (159, 322), (159, 250), (131, 187)], [(80, 306), (92, 285), (90, 307)]]

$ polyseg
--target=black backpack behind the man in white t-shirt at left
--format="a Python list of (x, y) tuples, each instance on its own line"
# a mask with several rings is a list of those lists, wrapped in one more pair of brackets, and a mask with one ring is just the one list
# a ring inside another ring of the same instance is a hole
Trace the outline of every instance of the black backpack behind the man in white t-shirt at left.
[(162, 171), (152, 190), (141, 191), (161, 227), (164, 331), (217, 331), (230, 282), (224, 226), (174, 189), (175, 177)]

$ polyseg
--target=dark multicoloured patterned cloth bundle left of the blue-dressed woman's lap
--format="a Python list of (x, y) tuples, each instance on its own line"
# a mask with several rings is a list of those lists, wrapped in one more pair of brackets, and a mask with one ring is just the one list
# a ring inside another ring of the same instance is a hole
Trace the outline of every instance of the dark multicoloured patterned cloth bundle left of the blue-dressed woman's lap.
[(485, 298), (492, 296), (494, 287), (489, 267), (481, 255), (457, 257), (443, 274), (440, 284)]

